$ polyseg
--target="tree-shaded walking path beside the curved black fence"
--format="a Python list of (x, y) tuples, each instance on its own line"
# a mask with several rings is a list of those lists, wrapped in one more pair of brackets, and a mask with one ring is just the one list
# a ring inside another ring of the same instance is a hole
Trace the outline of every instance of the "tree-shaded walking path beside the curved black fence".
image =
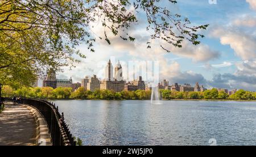
[(0, 146), (31, 146), (36, 143), (36, 122), (21, 105), (6, 104), (0, 114)]

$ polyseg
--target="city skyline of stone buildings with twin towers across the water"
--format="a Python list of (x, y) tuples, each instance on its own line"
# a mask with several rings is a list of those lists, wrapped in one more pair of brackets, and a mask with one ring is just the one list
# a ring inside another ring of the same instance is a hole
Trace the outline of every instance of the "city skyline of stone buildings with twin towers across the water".
[[(76, 89), (82, 87), (85, 90), (90, 90), (92, 92), (97, 89), (114, 90), (115, 92), (122, 92), (123, 90), (151, 90), (152, 86), (154, 85), (155, 82), (147, 82), (146, 80), (143, 80), (142, 76), (139, 76), (137, 79), (134, 77), (133, 80), (123, 79), (122, 64), (118, 60), (118, 63), (113, 66), (110, 59), (105, 65), (104, 79), (99, 79), (97, 75), (93, 75), (92, 77), (85, 76), (81, 81), (77, 81), (75, 84), (73, 84), (72, 77), (70, 77), (69, 80), (57, 79), (56, 72), (50, 69), (47, 72), (46, 79), (43, 81), (43, 86), (51, 86), (53, 89), (58, 87), (70, 87), (75, 91)], [(199, 82), (196, 82), (195, 86), (192, 86), (189, 83), (184, 83), (182, 85), (174, 82), (174, 84), (171, 84), (166, 79), (162, 81), (158, 80), (156, 86), (158, 86), (159, 89), (167, 89), (178, 92), (205, 92), (205, 90), (208, 90), (204, 85), (200, 85)], [(216, 89), (218, 89), (218, 92), (222, 91), (229, 95), (237, 92), (237, 88), (229, 90), (217, 87)]]

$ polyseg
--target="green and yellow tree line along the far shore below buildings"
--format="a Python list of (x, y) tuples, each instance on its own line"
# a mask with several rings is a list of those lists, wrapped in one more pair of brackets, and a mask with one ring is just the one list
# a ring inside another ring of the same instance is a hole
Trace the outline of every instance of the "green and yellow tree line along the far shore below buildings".
[[(150, 100), (151, 91), (122, 91), (113, 90), (95, 90), (94, 92), (79, 88), (72, 91), (72, 88), (51, 87), (22, 87), (13, 89), (5, 85), (2, 88), (3, 97), (20, 96), (23, 98), (46, 98), (46, 99), (80, 99), (80, 100)], [(213, 88), (205, 92), (177, 92), (171, 90), (159, 90), (160, 97), (163, 100), (256, 100), (256, 92), (238, 90), (235, 94), (229, 96), (224, 91), (218, 92)]]

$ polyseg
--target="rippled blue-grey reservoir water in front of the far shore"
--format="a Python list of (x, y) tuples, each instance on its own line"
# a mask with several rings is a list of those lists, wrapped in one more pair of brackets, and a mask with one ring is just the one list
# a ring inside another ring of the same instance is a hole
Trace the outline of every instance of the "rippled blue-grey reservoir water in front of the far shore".
[(256, 145), (256, 102), (54, 102), (84, 145)]

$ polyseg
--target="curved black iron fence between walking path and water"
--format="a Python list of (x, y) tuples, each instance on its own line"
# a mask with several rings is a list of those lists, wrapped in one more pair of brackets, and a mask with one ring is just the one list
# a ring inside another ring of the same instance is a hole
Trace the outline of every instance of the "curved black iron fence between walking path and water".
[(64, 121), (64, 114), (59, 113), (58, 107), (53, 102), (35, 99), (23, 99), (22, 102), (38, 109), (43, 115), (53, 146), (76, 146), (76, 141)]

